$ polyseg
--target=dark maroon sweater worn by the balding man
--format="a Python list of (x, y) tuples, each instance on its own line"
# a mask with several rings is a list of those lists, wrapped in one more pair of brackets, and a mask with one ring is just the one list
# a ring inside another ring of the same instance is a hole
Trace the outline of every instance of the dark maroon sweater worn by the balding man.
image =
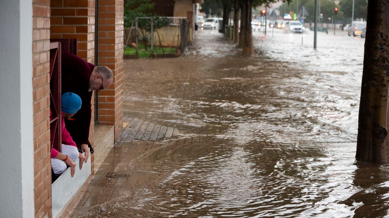
[(72, 131), (77, 133), (77, 143), (88, 144), (92, 112), (92, 91), (88, 92), (89, 77), (95, 65), (73, 54), (62, 52), (61, 55), (62, 93), (76, 93), (82, 100), (81, 109), (74, 116)]

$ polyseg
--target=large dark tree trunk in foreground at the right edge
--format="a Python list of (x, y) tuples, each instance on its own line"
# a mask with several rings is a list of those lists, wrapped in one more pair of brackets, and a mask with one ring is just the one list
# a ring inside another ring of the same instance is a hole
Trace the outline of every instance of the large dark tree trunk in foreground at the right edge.
[(389, 161), (389, 4), (369, 0), (356, 159)]

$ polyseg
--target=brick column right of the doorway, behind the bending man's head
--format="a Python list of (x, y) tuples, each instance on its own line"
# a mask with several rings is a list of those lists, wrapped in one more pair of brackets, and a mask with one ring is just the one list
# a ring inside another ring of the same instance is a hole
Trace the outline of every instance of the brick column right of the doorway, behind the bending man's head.
[(114, 73), (110, 87), (99, 92), (99, 123), (115, 125), (115, 139), (123, 130), (123, 0), (99, 1), (98, 62)]

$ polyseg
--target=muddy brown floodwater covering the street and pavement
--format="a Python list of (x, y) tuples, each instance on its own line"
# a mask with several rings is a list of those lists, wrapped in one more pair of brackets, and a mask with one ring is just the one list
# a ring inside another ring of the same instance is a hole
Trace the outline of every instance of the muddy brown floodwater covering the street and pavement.
[(186, 56), (125, 60), (124, 118), (179, 134), (122, 134), (70, 217), (389, 216), (388, 165), (355, 160), (364, 39), (336, 34), (254, 32), (240, 57), (204, 30)]

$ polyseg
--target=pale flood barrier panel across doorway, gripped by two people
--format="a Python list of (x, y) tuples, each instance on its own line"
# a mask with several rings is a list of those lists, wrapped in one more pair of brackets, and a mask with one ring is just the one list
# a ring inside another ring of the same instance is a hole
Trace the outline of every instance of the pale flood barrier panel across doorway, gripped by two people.
[(82, 187), (89, 175), (91, 175), (91, 156), (89, 156), (88, 162), (82, 165), (81, 170), (80, 161), (76, 161), (74, 177), (70, 175), (70, 167), (68, 167), (67, 170), (51, 184), (53, 217), (57, 217), (60, 214), (61, 210)]

